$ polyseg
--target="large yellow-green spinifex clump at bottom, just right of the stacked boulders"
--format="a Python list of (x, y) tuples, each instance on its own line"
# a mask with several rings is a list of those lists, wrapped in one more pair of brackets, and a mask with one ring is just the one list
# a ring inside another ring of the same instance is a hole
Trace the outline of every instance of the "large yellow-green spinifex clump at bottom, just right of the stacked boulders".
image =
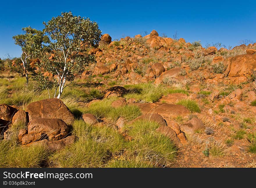
[(74, 122), (77, 142), (51, 157), (53, 167), (101, 167), (122, 154), (124, 139), (112, 127), (97, 127), (83, 120)]

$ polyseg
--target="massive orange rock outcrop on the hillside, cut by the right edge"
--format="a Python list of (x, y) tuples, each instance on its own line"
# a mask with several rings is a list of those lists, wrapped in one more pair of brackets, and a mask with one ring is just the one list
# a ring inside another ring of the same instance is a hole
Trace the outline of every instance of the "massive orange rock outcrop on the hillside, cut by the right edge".
[(256, 70), (256, 54), (236, 55), (228, 58), (224, 64), (227, 65), (224, 75), (230, 77), (232, 83), (239, 84), (244, 82), (253, 70)]

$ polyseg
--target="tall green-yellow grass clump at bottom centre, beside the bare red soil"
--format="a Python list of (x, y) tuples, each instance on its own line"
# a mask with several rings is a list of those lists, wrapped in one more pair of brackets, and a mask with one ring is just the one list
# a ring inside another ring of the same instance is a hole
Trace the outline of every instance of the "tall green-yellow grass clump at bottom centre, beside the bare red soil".
[(177, 156), (173, 141), (156, 132), (160, 125), (148, 120), (136, 121), (125, 126), (132, 140), (127, 143), (126, 158), (148, 161), (151, 165), (169, 165)]

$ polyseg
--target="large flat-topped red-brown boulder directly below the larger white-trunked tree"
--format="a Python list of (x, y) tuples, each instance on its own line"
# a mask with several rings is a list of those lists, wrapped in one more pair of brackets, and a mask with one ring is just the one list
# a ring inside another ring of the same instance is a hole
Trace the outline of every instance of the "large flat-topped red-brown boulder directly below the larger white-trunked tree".
[(26, 111), (29, 113), (29, 121), (38, 118), (58, 118), (67, 125), (74, 123), (74, 115), (67, 106), (57, 98), (44, 99), (30, 103)]

